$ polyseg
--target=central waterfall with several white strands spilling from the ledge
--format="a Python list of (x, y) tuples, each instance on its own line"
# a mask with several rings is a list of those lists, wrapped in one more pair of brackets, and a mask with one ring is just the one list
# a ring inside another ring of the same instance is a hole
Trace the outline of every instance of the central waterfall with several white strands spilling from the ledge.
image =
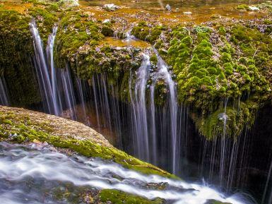
[[(177, 138), (177, 124), (179, 124), (177, 92), (167, 64), (158, 52), (155, 53), (158, 57), (157, 71), (151, 73), (150, 57), (148, 54), (143, 54), (142, 64), (136, 71), (135, 82), (132, 75), (129, 79), (134, 155), (162, 167), (167, 168), (170, 165), (170, 171), (177, 173), (179, 144), (182, 142)], [(149, 79), (152, 81), (151, 85), (148, 85)], [(162, 107), (155, 104), (155, 87), (158, 80), (163, 80), (169, 91), (167, 102)], [(148, 88), (150, 100), (146, 97)]]

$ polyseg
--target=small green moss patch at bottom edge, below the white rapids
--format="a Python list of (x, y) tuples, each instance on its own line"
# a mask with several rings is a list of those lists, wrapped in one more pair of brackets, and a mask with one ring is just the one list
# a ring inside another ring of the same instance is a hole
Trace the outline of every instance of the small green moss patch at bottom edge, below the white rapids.
[(134, 196), (129, 193), (124, 193), (122, 191), (117, 190), (102, 190), (100, 192), (100, 200), (103, 203), (114, 203), (114, 204), (161, 204), (164, 203), (164, 200), (160, 198), (156, 198), (155, 200), (148, 200), (146, 198), (142, 198), (140, 196)]

